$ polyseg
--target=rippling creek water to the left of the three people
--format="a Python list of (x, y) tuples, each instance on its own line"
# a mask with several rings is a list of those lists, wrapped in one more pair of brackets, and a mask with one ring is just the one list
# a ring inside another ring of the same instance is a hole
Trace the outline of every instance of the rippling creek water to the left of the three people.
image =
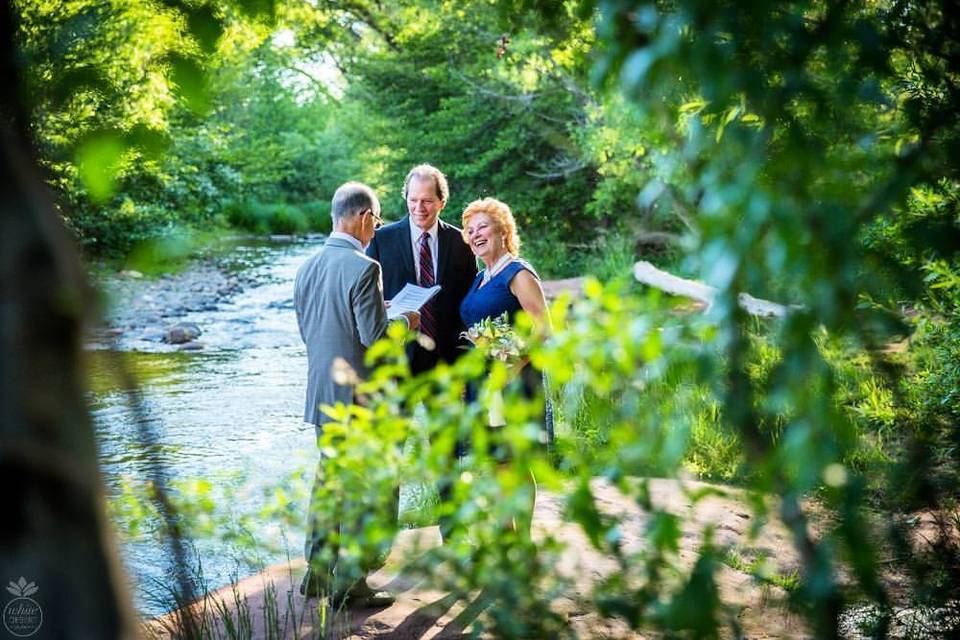
[[(175, 486), (194, 482), (201, 496), (209, 491), (216, 523), (190, 541), (191, 570), (207, 587), (302, 553), (297, 525), (256, 516), (278, 484), (296, 469), (312, 470), (316, 458), (313, 427), (302, 421), (306, 352), (293, 310), (293, 278), (318, 246), (314, 239), (233, 249), (228, 263), (243, 272), (244, 288), (206, 311), (164, 321), (196, 323), (202, 350), (170, 351), (157, 343), (143, 351), (142, 342), (132, 346), (121, 336), (110, 351), (88, 352), (100, 466), (111, 502), (126, 505), (114, 518), (126, 531), (123, 558), (144, 615), (173, 606), (174, 566), (160, 521), (137, 515), (119, 498), (125, 485), (142, 484), (154, 463)], [(139, 419), (117, 380), (117, 358), (139, 381)], [(299, 479), (309, 486), (312, 471)], [(293, 505), (291, 522), (302, 521), (304, 507)]]

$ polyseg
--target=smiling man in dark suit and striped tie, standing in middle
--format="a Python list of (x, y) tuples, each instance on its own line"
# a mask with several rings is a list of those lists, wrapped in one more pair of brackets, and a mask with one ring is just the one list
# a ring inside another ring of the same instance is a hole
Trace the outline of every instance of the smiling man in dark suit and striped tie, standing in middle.
[(440, 285), (440, 292), (420, 309), (420, 333), (433, 349), (413, 343), (407, 348), (414, 375), (443, 360), (453, 362), (465, 345), (460, 333), (460, 303), (477, 275), (477, 261), (459, 227), (440, 220), (450, 190), (439, 169), (414, 167), (403, 182), (407, 213), (399, 222), (377, 231), (367, 255), (383, 268), (383, 295), (393, 298), (407, 283)]

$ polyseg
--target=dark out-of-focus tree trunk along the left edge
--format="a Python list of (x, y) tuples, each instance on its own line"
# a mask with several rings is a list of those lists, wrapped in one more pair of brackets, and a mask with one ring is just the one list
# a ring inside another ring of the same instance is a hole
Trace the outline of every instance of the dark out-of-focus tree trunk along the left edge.
[[(27, 142), (13, 9), (0, 11), (0, 582), (37, 588), (21, 587), (19, 600), (0, 591), (2, 633), (39, 622), (31, 637), (129, 637), (134, 617), (83, 397), (89, 290)], [(12, 617), (18, 604), (26, 618)], [(42, 621), (30, 618), (36, 605)]]

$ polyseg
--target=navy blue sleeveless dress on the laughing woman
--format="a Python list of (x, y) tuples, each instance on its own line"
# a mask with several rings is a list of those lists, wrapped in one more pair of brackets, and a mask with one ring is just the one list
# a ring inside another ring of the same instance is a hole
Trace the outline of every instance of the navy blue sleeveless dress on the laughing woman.
[[(537, 272), (533, 270), (527, 262), (514, 259), (493, 276), (487, 284), (480, 286), (483, 282), (483, 272), (477, 274), (473, 281), (473, 286), (467, 292), (463, 302), (460, 303), (460, 319), (463, 320), (465, 327), (472, 327), (484, 318), (496, 318), (503, 315), (504, 312), (513, 321), (514, 316), (523, 307), (520, 300), (510, 291), (510, 283), (521, 271), (529, 271), (534, 278), (540, 279)], [(543, 428), (546, 431), (547, 442), (553, 442), (553, 406), (550, 400), (545, 397), (543, 375), (531, 367), (529, 364), (520, 372), (520, 379), (523, 383), (523, 392), (527, 398), (541, 396), (544, 398)], [(468, 388), (467, 401), (473, 401), (476, 397), (476, 390)]]

